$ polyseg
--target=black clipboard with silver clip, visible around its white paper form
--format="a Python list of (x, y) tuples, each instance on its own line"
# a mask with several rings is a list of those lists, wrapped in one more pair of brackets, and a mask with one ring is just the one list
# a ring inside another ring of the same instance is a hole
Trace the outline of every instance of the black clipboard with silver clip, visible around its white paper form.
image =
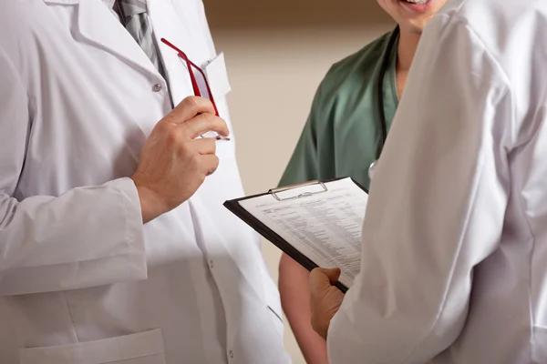
[[(328, 187), (326, 185), (329, 182), (334, 182), (334, 181), (345, 179), (345, 178), (346, 177), (335, 178), (335, 179), (329, 179), (325, 181), (313, 180), (313, 181), (305, 182), (302, 184), (296, 184), (296, 185), (291, 185), (286, 187), (277, 187), (277, 188), (270, 189), (268, 192), (263, 194), (258, 194), (258, 195), (248, 196), (248, 197), (241, 197), (241, 198), (226, 201), (224, 202), (223, 206), (226, 207), (228, 210), (230, 210), (232, 214), (241, 218), (243, 222), (245, 222), (247, 225), (249, 225), (250, 227), (253, 227), (253, 229), (257, 233), (259, 233), (263, 238), (273, 243), (277, 248), (280, 248), (286, 255), (293, 258), (301, 266), (308, 269), (309, 271), (312, 271), (313, 269), (319, 267), (317, 264), (315, 264), (314, 261), (312, 261), (310, 258), (307, 258), (298, 249), (294, 248), (291, 244), (285, 241), (284, 238), (280, 237), (276, 232), (274, 232), (274, 230), (272, 230), (270, 227), (267, 227), (266, 225), (264, 225), (262, 221), (254, 217), (239, 203), (246, 199), (263, 197), (266, 195), (272, 195), (278, 201), (309, 197), (311, 195), (328, 192)], [(366, 187), (361, 186), (359, 183), (356, 182), (355, 179), (353, 178), (350, 178), (350, 179), (353, 183), (356, 184), (357, 187), (360, 187), (363, 191), (366, 192), (366, 194), (368, 194), (368, 190), (366, 189)], [(302, 194), (298, 194), (291, 197), (281, 196), (283, 192), (291, 191), (291, 190), (294, 190), (295, 188), (312, 187), (312, 186), (318, 186), (318, 187), (321, 187), (321, 189), (315, 192), (304, 192)], [(340, 282), (336, 282), (335, 287), (339, 288), (344, 293), (346, 293), (348, 289), (344, 284)]]

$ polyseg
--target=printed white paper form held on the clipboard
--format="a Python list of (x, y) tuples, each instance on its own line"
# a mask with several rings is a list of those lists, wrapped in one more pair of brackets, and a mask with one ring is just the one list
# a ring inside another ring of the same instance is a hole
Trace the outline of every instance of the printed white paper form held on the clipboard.
[[(361, 230), (368, 195), (351, 178), (295, 187), (239, 204), (321, 268), (342, 269), (351, 287), (361, 268)], [(306, 193), (312, 193), (306, 195)], [(291, 198), (297, 197), (297, 198)]]

